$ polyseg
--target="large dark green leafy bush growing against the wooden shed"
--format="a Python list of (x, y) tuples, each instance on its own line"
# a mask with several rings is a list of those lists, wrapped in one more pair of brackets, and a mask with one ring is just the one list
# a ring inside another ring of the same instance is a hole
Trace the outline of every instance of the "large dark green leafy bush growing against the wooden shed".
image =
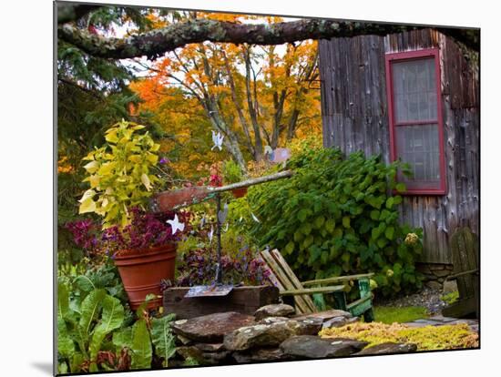
[[(245, 230), (261, 247), (281, 250), (302, 280), (374, 272), (385, 296), (421, 287), (414, 261), (422, 230), (399, 224), (402, 198), (392, 195), (404, 191), (395, 176), (407, 167), (361, 152), (343, 158), (338, 149), (312, 143), (297, 150), (288, 161), (291, 178), (249, 190), (245, 206), (260, 222), (241, 222)], [(235, 202), (230, 213), (242, 216), (239, 206)]]

